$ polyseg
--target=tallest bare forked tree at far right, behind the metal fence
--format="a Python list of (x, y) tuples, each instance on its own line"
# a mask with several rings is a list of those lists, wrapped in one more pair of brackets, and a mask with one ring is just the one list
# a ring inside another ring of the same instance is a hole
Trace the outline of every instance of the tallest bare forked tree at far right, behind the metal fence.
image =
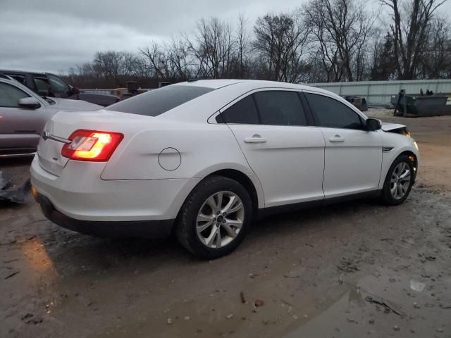
[(395, 43), (398, 77), (415, 79), (426, 50), (433, 13), (446, 0), (380, 1), (391, 11), (390, 32)]

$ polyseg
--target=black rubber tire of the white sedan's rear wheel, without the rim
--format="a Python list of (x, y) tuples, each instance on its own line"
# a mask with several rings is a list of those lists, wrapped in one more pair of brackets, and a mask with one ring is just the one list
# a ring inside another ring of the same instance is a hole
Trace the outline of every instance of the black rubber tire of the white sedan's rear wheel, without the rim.
[[(223, 191), (233, 192), (233, 194), (236, 194), (241, 199), (245, 212), (244, 220), (242, 221), (240, 232), (232, 242), (218, 249), (210, 248), (201, 242), (201, 239), (197, 236), (197, 214), (209, 196)], [(194, 256), (202, 259), (214, 259), (234, 251), (247, 234), (251, 222), (252, 200), (245, 187), (227, 177), (210, 176), (197, 184), (197, 187), (187, 197), (178, 215), (177, 224), (175, 225), (175, 235), (178, 242), (187, 251), (193, 253)]]

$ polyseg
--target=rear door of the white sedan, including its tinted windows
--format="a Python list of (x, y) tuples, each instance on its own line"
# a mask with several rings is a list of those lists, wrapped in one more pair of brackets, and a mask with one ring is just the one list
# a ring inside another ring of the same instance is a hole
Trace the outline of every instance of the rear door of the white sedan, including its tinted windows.
[(264, 191), (265, 207), (323, 199), (324, 139), (289, 89), (248, 94), (221, 110)]

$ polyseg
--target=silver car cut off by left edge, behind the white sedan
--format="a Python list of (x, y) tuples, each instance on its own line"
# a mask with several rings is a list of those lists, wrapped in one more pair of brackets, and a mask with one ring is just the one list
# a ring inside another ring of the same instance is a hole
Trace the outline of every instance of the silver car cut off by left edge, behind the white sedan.
[(41, 97), (6, 76), (0, 77), (0, 156), (36, 151), (44, 125), (58, 111), (97, 111), (86, 101)]

